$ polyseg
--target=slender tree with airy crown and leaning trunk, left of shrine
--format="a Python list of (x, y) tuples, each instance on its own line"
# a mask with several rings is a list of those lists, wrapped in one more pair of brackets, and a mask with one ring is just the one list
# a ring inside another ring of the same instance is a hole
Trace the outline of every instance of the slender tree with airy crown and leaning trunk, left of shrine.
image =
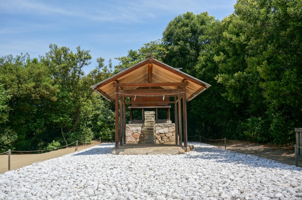
[(80, 114), (86, 101), (92, 95), (92, 89), (83, 81), (83, 67), (91, 62), (89, 50), (82, 50), (80, 46), (73, 53), (68, 47), (49, 45), (50, 51), (42, 57), (42, 62), (49, 67), (55, 84), (59, 85), (59, 97), (52, 120), (60, 127), (63, 139), (69, 136), (77, 127)]

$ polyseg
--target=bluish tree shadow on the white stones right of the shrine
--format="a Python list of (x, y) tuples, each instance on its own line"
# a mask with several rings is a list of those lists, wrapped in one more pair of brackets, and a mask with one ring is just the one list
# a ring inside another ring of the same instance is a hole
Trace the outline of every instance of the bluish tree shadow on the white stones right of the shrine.
[(217, 163), (229, 164), (243, 164), (250, 167), (265, 167), (265, 168), (279, 168), (283, 170), (298, 170), (302, 171), (300, 167), (291, 166), (274, 160), (260, 158), (255, 155), (242, 154), (238, 152), (231, 152), (218, 147), (205, 145), (203, 147), (195, 147), (193, 151), (200, 152), (200, 155), (187, 155), (186, 159), (206, 159)]

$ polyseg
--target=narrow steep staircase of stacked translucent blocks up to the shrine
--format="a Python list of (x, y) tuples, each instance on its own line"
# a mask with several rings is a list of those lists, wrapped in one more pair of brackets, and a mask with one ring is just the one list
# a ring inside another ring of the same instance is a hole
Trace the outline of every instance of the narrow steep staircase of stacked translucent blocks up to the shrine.
[(145, 143), (146, 144), (155, 144), (156, 136), (155, 131), (155, 112), (154, 111), (145, 111)]

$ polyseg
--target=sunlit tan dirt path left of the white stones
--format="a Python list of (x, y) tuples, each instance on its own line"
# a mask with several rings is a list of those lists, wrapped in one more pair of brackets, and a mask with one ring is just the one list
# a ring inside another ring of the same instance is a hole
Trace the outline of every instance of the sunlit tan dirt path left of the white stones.
[[(98, 145), (99, 142), (93, 141), (90, 145), (78, 146), (78, 151)], [(31, 165), (35, 162), (46, 161), (51, 158), (57, 158), (75, 151), (76, 146), (55, 150), (43, 154), (23, 154), (11, 155), (11, 170), (19, 169), (21, 167)], [(8, 155), (0, 155), (0, 173), (8, 171)]]

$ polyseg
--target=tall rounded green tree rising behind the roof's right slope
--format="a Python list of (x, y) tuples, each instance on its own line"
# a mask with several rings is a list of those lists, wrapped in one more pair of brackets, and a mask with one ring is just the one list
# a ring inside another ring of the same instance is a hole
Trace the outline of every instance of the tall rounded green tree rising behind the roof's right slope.
[(164, 62), (176, 68), (182, 67), (185, 73), (195, 76), (194, 66), (203, 44), (201, 37), (212, 20), (214, 17), (207, 12), (197, 15), (187, 12), (171, 20), (162, 33), (162, 41), (167, 48)]

